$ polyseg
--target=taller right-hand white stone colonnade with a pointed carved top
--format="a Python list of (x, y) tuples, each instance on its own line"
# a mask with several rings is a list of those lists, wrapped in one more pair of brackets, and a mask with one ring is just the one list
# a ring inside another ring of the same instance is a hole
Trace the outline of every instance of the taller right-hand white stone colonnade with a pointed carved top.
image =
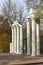
[[(32, 30), (31, 34), (30, 34), (30, 23)], [(39, 26), (40, 26), (40, 21), (38, 21), (38, 18), (36, 16), (36, 11), (31, 8), (29, 12), (29, 16), (27, 17), (27, 55), (31, 55), (31, 56), (40, 55)], [(31, 41), (30, 36), (32, 38), (32, 43), (30, 42)], [(32, 45), (32, 53), (30, 52), (31, 51), (30, 44)]]

